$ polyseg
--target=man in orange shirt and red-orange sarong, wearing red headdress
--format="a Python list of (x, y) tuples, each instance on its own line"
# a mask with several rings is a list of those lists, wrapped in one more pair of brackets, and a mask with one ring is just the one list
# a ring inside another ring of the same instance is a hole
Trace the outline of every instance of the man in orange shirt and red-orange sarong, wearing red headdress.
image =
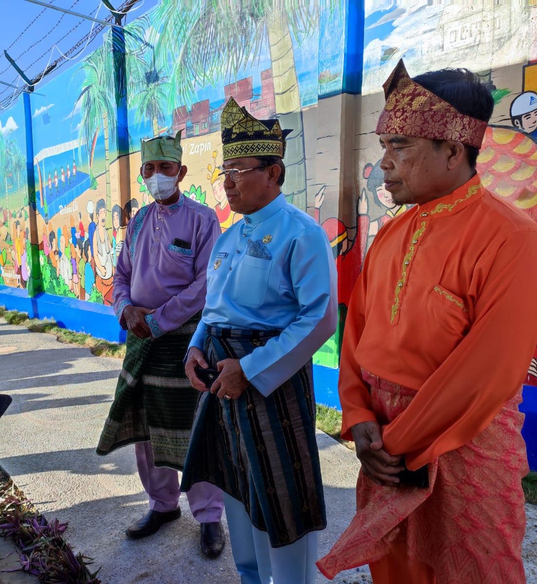
[[(410, 79), (400, 61), (384, 88), (386, 189), (416, 205), (383, 225), (351, 297), (339, 391), (357, 515), (318, 566), (333, 578), (369, 563), (375, 584), (522, 584), (537, 224), (475, 171), (493, 110), (475, 75)], [(428, 486), (399, 477), (405, 465)]]

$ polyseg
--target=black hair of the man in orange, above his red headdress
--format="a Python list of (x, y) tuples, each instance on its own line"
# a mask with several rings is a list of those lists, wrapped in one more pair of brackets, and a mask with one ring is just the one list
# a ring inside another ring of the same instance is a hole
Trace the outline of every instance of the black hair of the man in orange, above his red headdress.
[[(417, 84), (428, 89), (434, 95), (451, 103), (455, 109), (488, 123), (494, 109), (494, 99), (489, 88), (480, 81), (479, 75), (468, 69), (440, 69), (429, 71), (413, 78)], [(435, 140), (440, 145), (442, 140)], [(476, 168), (479, 148), (465, 146), (468, 152), (468, 163), (472, 169)]]

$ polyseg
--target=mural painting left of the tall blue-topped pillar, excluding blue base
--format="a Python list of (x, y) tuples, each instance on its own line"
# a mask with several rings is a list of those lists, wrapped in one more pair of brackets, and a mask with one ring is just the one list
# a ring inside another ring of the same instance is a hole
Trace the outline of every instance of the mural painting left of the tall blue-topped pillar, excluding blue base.
[[(0, 160), (0, 283), (26, 285), (31, 197), (43, 291), (111, 305), (125, 228), (152, 201), (140, 175), (141, 138), (182, 130), (189, 169), (183, 192), (214, 208), (222, 231), (236, 223), (240, 215), (229, 208), (218, 177), (220, 115), (230, 96), (254, 116), (277, 116), (282, 127), (292, 128), (288, 200), (313, 213), (322, 193), (323, 211), (337, 216), (339, 134), (322, 137), (326, 154), (319, 155), (317, 106), (323, 98), (334, 102), (334, 112), (340, 109), (344, 36), (331, 31), (343, 30), (345, 3), (201, 6), (163, 1), (124, 34), (104, 34), (92, 54), (40, 85), (43, 95), (31, 96), (34, 195), (20, 188), (26, 179), (16, 170), (26, 164), (17, 158), (19, 109), (0, 113), (9, 141), (5, 148), (0, 143), (0, 152), (10, 156), (5, 164)], [(335, 337), (317, 360), (337, 366)]]

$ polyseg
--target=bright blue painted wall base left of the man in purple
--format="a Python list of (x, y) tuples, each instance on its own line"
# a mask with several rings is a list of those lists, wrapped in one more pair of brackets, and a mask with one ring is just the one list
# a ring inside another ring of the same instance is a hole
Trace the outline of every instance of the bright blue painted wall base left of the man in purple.
[(44, 293), (29, 298), (26, 290), (0, 286), (0, 306), (27, 312), (30, 318), (53, 318), (58, 326), (99, 339), (123, 343), (127, 336), (112, 308), (102, 304)]

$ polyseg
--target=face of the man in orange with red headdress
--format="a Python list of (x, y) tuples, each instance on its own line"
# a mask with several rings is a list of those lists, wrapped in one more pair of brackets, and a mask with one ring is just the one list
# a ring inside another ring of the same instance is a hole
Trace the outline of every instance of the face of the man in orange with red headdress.
[(448, 168), (446, 148), (435, 149), (433, 140), (399, 134), (381, 134), (384, 186), (393, 203), (426, 203), (445, 185)]

